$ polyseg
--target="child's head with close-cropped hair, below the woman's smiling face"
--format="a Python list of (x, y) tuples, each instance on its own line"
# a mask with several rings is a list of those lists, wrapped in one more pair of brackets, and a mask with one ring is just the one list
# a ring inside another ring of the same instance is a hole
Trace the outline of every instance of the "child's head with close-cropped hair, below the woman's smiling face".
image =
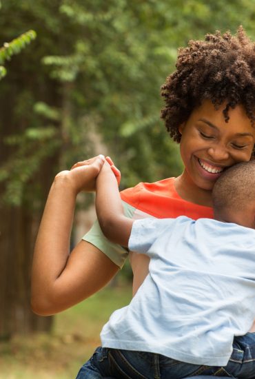
[(255, 161), (227, 169), (212, 189), (214, 218), (255, 229)]

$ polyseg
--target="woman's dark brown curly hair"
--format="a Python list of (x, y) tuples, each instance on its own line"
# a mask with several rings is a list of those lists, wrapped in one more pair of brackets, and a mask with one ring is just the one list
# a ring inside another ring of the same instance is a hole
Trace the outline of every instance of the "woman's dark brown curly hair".
[(227, 101), (223, 110), (226, 122), (230, 107), (242, 104), (254, 125), (254, 42), (242, 26), (236, 36), (216, 31), (207, 34), (205, 41), (190, 41), (187, 48), (179, 50), (176, 71), (167, 76), (161, 95), (165, 99), (161, 118), (176, 142), (181, 140), (179, 125), (204, 99), (210, 99), (216, 109)]

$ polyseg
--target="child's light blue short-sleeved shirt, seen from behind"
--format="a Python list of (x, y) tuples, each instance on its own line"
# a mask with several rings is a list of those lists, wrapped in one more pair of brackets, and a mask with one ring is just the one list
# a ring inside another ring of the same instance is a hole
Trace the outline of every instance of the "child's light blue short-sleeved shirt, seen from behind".
[(130, 305), (101, 331), (103, 347), (225, 366), (255, 318), (255, 231), (209, 218), (134, 222), (129, 248), (150, 256)]

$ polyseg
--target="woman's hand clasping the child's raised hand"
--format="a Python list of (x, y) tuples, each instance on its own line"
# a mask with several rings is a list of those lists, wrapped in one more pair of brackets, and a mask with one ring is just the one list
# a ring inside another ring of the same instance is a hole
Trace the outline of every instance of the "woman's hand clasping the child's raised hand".
[(70, 171), (59, 172), (55, 180), (67, 179), (76, 194), (93, 192), (96, 189), (96, 176), (98, 176), (104, 163), (104, 156), (94, 156), (94, 158), (86, 161), (75, 163)]

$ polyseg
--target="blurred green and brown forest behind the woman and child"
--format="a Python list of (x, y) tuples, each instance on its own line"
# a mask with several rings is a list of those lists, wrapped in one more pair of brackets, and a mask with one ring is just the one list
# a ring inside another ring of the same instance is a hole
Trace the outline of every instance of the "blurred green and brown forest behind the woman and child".
[(13, 338), (52, 331), (30, 311), (30, 267), (54, 175), (99, 153), (121, 169), (121, 189), (179, 174), (159, 116), (177, 48), (241, 24), (254, 38), (254, 22), (255, 0), (0, 1), (2, 359)]

